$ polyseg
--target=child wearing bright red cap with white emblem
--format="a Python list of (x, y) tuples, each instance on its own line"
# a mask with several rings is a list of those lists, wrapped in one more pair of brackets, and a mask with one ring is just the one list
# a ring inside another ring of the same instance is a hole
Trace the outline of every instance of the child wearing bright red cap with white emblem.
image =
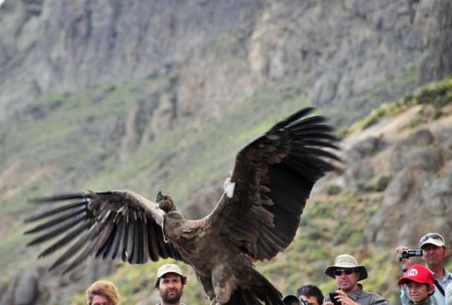
[(398, 280), (398, 285), (404, 285), (408, 292), (409, 305), (432, 305), (430, 296), (434, 293), (434, 276), (423, 265), (412, 265), (403, 277)]

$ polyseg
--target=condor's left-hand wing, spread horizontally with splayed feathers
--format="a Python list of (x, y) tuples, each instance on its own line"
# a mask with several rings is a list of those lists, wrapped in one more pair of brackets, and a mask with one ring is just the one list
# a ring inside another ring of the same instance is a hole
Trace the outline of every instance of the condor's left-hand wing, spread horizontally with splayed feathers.
[[(68, 201), (70, 201), (68, 203)], [(44, 220), (25, 234), (41, 233), (27, 246), (60, 237), (39, 257), (69, 249), (49, 268), (66, 265), (64, 273), (83, 264), (92, 255), (145, 263), (172, 257), (183, 261), (171, 242), (162, 234), (163, 211), (131, 191), (88, 192), (33, 199), (34, 203), (62, 202), (25, 222)]]

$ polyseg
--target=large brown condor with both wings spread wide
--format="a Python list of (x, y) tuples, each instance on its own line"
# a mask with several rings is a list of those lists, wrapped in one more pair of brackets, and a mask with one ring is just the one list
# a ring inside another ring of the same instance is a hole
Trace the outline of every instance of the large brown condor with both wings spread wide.
[[(314, 183), (335, 168), (333, 128), (302, 109), (237, 155), (225, 193), (201, 220), (187, 220), (160, 191), (155, 203), (131, 191), (37, 198), (61, 202), (26, 222), (30, 245), (59, 237), (40, 253), (67, 248), (50, 269), (69, 272), (90, 256), (129, 263), (174, 258), (191, 265), (210, 304), (283, 304), (282, 294), (254, 267), (284, 251), (295, 237)], [(69, 245), (69, 243), (72, 243)]]

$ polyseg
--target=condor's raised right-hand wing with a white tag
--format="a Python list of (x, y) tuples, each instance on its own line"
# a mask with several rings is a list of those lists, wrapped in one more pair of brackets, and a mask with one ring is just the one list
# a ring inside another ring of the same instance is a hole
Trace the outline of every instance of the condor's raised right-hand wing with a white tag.
[(334, 169), (333, 129), (322, 116), (303, 119), (312, 108), (281, 121), (237, 155), (225, 196), (205, 222), (220, 227), (229, 247), (270, 260), (295, 237), (314, 183)]

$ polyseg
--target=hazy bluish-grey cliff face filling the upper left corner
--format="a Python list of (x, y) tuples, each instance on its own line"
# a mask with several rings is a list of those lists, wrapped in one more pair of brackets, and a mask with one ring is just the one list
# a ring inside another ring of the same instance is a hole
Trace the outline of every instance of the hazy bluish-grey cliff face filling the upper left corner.
[(41, 92), (145, 78), (210, 44), (261, 1), (6, 1), (0, 10), (0, 119)]

